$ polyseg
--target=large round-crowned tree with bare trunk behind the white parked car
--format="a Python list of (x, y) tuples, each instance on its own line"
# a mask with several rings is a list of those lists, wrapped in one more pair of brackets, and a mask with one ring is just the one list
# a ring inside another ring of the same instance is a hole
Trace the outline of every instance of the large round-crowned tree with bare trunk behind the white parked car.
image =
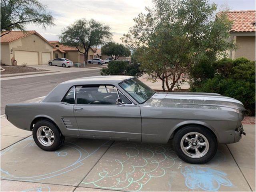
[(104, 45), (112, 40), (110, 27), (93, 19), (80, 19), (65, 28), (60, 35), (64, 45), (76, 47), (84, 54), (84, 63), (88, 61), (88, 52), (91, 47)]

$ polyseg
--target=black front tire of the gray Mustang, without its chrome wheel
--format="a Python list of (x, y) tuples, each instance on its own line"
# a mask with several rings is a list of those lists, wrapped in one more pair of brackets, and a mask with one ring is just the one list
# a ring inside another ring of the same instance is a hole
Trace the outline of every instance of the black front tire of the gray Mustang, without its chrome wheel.
[[(188, 157), (186, 154), (184, 154), (184, 152), (182, 152), (182, 149), (180, 147), (180, 141), (182, 137), (189, 132), (198, 132), (203, 134), (207, 138), (209, 142), (209, 150), (203, 157), (191, 158), (191, 157)], [(176, 132), (176, 134), (174, 135), (173, 147), (176, 154), (179, 156), (179, 158), (181, 158), (185, 162), (192, 163), (192, 164), (204, 164), (210, 161), (214, 157), (214, 155), (217, 152), (218, 143), (214, 134), (212, 134), (212, 132), (207, 128), (202, 126), (186, 126), (178, 130), (178, 132)]]

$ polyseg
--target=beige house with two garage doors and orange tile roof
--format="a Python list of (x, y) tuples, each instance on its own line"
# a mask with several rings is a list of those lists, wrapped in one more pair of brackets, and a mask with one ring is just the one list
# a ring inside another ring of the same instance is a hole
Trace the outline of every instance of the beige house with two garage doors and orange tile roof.
[[(11, 31), (1, 37), (1, 63), (12, 65), (46, 65), (53, 58), (53, 48), (36, 31)], [(1, 34), (2, 34), (1, 33)]]

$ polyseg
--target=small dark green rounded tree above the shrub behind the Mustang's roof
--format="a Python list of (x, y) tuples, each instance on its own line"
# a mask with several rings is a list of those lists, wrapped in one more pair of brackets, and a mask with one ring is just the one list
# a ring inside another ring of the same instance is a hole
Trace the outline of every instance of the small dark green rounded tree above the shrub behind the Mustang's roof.
[(108, 44), (102, 46), (101, 48), (102, 55), (108, 55), (114, 60), (117, 60), (120, 57), (130, 56), (130, 50), (125, 47), (123, 44), (109, 42)]

